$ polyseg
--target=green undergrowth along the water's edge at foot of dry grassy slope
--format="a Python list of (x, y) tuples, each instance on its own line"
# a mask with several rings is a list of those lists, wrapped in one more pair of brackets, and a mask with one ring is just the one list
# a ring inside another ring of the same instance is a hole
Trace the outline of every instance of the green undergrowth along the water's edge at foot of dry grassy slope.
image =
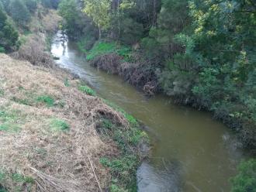
[(120, 151), (120, 155), (100, 159), (103, 166), (109, 168), (112, 180), (109, 190), (111, 192), (137, 191), (137, 166), (143, 158), (140, 146), (148, 143), (147, 134), (140, 129), (140, 125), (132, 115), (128, 115), (122, 108), (106, 101), (117, 111), (123, 113), (129, 122), (128, 128), (119, 127), (109, 118), (102, 118), (97, 132), (103, 139), (112, 139)]

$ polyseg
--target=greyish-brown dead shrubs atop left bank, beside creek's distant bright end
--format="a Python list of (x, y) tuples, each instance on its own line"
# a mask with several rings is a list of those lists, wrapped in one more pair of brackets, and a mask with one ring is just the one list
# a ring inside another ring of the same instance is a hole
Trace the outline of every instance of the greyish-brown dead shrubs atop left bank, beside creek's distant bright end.
[(47, 51), (47, 34), (57, 30), (61, 17), (54, 10), (44, 10), (42, 7), (37, 9), (29, 25), (32, 34), (25, 37), (25, 43), (12, 57), (19, 60), (28, 60), (33, 65), (53, 67), (54, 60)]

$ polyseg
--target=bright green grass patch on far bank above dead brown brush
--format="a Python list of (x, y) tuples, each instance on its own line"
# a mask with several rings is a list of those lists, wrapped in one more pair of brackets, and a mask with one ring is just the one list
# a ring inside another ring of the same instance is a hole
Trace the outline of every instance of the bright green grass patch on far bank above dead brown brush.
[(88, 51), (87, 60), (94, 60), (95, 57), (98, 57), (107, 53), (116, 53), (119, 56), (123, 57), (123, 60), (129, 62), (132, 60), (132, 50), (128, 46), (120, 45), (116, 42), (97, 42), (92, 47), (92, 50)]

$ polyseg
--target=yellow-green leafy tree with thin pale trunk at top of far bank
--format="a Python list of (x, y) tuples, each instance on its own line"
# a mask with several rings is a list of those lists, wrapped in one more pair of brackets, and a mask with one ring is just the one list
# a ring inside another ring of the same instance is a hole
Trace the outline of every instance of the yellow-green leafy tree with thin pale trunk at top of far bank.
[(88, 15), (99, 29), (99, 39), (102, 38), (102, 30), (109, 29), (110, 25), (110, 0), (84, 0), (83, 12)]

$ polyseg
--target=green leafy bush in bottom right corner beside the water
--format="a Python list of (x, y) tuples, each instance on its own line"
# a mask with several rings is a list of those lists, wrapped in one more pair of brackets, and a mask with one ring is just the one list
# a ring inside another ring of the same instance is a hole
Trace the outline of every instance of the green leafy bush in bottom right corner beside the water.
[(238, 174), (231, 179), (232, 192), (253, 192), (256, 189), (256, 159), (240, 163)]

